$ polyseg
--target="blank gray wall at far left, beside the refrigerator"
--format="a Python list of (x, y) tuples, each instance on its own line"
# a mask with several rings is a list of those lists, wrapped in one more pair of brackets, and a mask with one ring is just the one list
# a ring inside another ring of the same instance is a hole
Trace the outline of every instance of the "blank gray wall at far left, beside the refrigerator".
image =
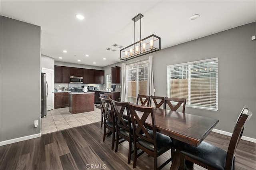
[(1, 141), (40, 133), (40, 32), (1, 16)]

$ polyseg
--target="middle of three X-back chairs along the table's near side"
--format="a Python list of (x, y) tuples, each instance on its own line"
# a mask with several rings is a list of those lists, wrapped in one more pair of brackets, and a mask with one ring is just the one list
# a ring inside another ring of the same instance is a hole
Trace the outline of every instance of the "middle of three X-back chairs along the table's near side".
[[(131, 162), (132, 155), (132, 142), (133, 142), (133, 132), (130, 117), (129, 104), (127, 102), (119, 102), (112, 100), (112, 105), (114, 109), (114, 114), (116, 117), (116, 150), (118, 150), (118, 144), (128, 141), (128, 164)], [(124, 119), (123, 114), (126, 112), (127, 118)], [(120, 140), (122, 139), (122, 140)]]

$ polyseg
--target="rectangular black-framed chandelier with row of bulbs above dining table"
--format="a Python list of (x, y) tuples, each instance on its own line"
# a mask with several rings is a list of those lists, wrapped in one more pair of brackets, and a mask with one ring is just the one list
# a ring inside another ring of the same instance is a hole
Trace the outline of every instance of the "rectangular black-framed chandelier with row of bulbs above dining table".
[[(161, 49), (160, 37), (152, 34), (151, 36), (141, 39), (142, 17), (142, 14), (138, 14), (136, 17), (132, 18), (132, 21), (134, 22), (134, 43), (120, 50), (120, 59), (122, 60), (133, 59)], [(140, 20), (140, 40), (135, 42), (135, 22), (138, 20)]]

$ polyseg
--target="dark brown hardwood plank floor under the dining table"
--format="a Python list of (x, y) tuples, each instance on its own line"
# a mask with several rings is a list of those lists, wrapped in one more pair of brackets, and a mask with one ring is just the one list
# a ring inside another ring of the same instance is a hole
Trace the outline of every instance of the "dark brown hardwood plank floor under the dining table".
[[(127, 164), (128, 142), (118, 146), (118, 152), (111, 150), (111, 136), (103, 139), (103, 128), (100, 122), (62, 131), (43, 134), (39, 138), (16, 142), (0, 147), (1, 170), (132, 170), (133, 154)], [(211, 132), (207, 142), (227, 150), (229, 136)], [(170, 152), (158, 158), (162, 164), (169, 158)], [(154, 161), (147, 154), (137, 160), (137, 170), (153, 169)], [(163, 170), (170, 169), (171, 163)], [(203, 170), (194, 165), (194, 170)], [(236, 152), (236, 170), (256, 169), (256, 144), (241, 140)]]

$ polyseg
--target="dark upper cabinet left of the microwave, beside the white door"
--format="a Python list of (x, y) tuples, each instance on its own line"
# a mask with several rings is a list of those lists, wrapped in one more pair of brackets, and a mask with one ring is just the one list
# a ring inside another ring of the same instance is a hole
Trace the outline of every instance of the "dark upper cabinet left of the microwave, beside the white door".
[(70, 83), (69, 67), (54, 66), (54, 82), (55, 83)]

